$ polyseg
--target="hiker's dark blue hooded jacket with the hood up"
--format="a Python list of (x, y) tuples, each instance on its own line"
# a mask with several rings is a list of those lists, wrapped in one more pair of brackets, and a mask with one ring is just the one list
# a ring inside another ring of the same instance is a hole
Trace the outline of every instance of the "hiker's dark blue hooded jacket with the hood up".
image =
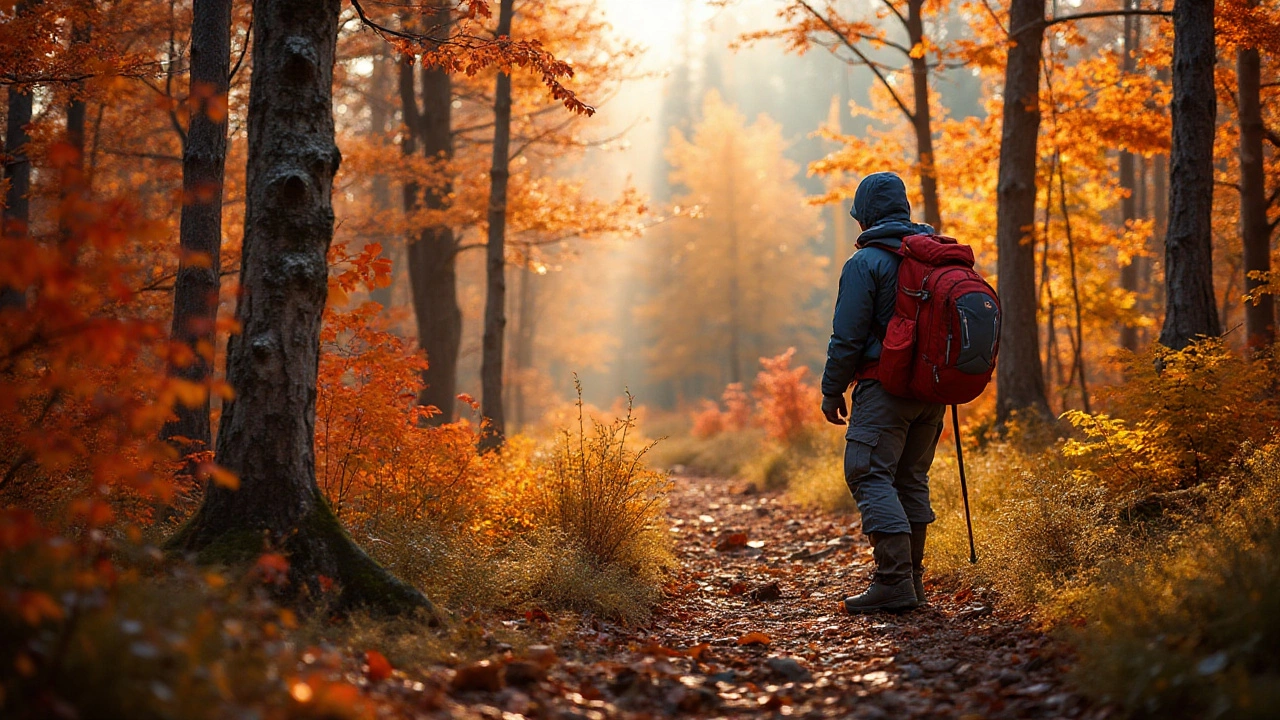
[(879, 357), (897, 297), (897, 264), (893, 252), (909, 234), (929, 234), (933, 228), (911, 222), (906, 186), (893, 173), (867, 176), (854, 195), (849, 211), (867, 229), (858, 236), (858, 251), (845, 263), (836, 293), (836, 314), (827, 345), (827, 368), (822, 393), (844, 395), (858, 372)]

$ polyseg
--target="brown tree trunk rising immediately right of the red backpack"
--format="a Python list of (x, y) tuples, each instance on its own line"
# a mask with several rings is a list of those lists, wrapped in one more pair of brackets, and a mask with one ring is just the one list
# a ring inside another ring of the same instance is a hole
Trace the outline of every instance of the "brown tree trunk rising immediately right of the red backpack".
[(1036, 142), (1039, 135), (1044, 0), (1012, 0), (996, 197), (996, 265), (1005, 313), (996, 373), (996, 421), (1030, 410), (1048, 416), (1036, 320)]

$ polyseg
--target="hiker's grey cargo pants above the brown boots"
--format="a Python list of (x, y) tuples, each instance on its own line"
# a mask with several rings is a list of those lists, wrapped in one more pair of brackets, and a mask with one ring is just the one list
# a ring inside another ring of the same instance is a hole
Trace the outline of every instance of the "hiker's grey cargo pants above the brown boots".
[(934, 520), (929, 466), (945, 414), (946, 405), (892, 396), (878, 380), (854, 387), (845, 482), (864, 533), (910, 533), (911, 523)]

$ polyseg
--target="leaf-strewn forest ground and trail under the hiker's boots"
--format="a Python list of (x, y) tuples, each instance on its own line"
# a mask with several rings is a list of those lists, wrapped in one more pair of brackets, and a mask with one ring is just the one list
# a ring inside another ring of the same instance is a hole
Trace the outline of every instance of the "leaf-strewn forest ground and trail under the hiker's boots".
[(861, 591), (873, 565), (856, 524), (842, 518), (797, 507), (780, 493), (685, 477), (675, 479), (669, 518), (680, 568), (649, 624), (591, 620), (553, 630), (554, 623), (530, 614), (508, 620), (508, 626), (543, 621), (553, 639), (513, 659), (449, 671), (438, 680), (447, 684), (429, 703), (431, 714), (593, 720), (1108, 714), (1069, 689), (1071, 659), (1060, 643), (982, 592), (927, 580), (931, 600), (922, 609), (845, 615), (840, 600)]

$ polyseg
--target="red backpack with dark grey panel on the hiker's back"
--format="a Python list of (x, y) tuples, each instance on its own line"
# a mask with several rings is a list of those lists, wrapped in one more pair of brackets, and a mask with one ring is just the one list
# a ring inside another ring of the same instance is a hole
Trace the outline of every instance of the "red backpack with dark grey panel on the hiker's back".
[(996, 369), (996, 291), (973, 269), (973, 249), (955, 238), (913, 234), (893, 252), (902, 263), (877, 379), (900, 397), (969, 402)]

